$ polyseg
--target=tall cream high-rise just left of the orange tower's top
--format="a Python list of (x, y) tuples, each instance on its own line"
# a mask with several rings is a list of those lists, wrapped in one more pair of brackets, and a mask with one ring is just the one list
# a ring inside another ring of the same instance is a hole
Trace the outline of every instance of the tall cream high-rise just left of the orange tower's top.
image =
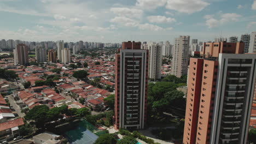
[(172, 71), (171, 74), (177, 77), (187, 75), (189, 59), (189, 36), (179, 36), (174, 40), (172, 53)]

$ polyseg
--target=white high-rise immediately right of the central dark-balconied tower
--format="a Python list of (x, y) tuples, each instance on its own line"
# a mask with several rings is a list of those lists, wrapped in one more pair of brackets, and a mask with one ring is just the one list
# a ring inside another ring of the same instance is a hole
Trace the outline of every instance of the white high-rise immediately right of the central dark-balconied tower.
[(162, 46), (159, 44), (148, 44), (149, 50), (149, 61), (148, 71), (149, 79), (158, 80), (161, 79), (161, 68), (162, 68)]

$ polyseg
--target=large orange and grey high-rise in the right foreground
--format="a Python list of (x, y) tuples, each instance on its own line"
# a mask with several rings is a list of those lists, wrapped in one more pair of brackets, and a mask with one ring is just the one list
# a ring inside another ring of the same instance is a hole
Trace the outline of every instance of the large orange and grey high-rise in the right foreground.
[(205, 43), (190, 58), (184, 144), (246, 143), (256, 55), (243, 43)]

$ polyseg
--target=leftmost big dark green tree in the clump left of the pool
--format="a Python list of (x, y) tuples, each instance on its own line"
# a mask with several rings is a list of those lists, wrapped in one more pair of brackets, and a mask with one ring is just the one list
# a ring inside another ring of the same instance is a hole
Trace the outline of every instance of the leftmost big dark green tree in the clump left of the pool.
[(36, 105), (30, 111), (27, 112), (25, 119), (33, 120), (36, 122), (37, 127), (44, 127), (44, 123), (46, 122), (47, 112), (49, 111), (49, 107), (46, 105)]

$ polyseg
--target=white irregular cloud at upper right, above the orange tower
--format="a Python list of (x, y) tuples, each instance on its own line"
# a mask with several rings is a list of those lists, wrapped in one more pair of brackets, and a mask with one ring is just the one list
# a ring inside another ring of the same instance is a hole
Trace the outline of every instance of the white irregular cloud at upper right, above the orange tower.
[(235, 13), (226, 13), (226, 14), (220, 14), (220, 19), (214, 18), (214, 15), (205, 15), (204, 18), (206, 19), (206, 26), (208, 28), (217, 27), (220, 25), (224, 25), (225, 23), (232, 22), (232, 21), (238, 21), (238, 18), (241, 17), (241, 15), (235, 14)]

